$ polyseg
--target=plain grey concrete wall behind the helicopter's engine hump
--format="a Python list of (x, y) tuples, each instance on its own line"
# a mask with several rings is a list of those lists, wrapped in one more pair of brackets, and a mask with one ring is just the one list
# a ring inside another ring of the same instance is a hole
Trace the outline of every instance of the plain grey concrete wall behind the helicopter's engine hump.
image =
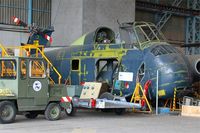
[(98, 26), (118, 31), (118, 23), (135, 20), (135, 0), (52, 0), (53, 45), (70, 45)]

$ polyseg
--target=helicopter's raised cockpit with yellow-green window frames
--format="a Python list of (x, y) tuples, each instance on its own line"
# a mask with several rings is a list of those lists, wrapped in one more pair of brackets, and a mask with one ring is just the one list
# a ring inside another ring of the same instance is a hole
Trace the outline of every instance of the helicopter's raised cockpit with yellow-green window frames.
[(156, 26), (147, 22), (122, 23), (120, 26), (120, 39), (125, 44), (144, 49), (155, 42), (166, 42), (164, 35)]

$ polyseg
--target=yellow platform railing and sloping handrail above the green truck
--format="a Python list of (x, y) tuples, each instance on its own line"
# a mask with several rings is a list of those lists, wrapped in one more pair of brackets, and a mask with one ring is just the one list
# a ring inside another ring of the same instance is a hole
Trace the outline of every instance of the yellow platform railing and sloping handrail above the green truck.
[[(58, 75), (58, 83), (61, 83), (61, 79), (62, 76), (61, 74), (58, 72), (58, 70), (53, 66), (53, 64), (50, 62), (50, 60), (46, 57), (46, 55), (44, 54), (44, 46), (39, 45), (38, 41), (34, 42), (34, 45), (32, 44), (27, 44), (24, 46), (13, 46), (13, 47), (4, 47), (2, 44), (0, 44), (0, 49), (1, 49), (1, 57), (5, 57), (5, 56), (15, 56), (14, 51), (12, 50), (17, 50), (18, 51), (18, 55), (19, 57), (29, 57), (31, 54), (31, 51), (34, 50), (35, 54), (34, 57), (39, 57), (42, 56), (42, 58), (44, 58), (47, 62), (47, 68), (50, 69), (50, 67), (53, 68), (53, 70), (55, 71), (55, 73)], [(9, 53), (8, 50), (10, 50), (11, 52)], [(32, 56), (32, 55), (31, 55)], [(41, 65), (38, 63), (38, 65)], [(41, 68), (43, 68), (41, 66)], [(52, 83), (55, 84), (55, 81), (53, 81), (53, 79), (49, 76), (49, 79), (52, 81)]]

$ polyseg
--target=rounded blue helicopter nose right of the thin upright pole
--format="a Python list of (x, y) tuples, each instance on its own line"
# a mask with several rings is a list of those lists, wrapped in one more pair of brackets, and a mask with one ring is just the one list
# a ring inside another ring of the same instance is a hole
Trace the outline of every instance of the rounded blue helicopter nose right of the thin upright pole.
[(158, 83), (161, 98), (173, 97), (175, 88), (183, 90), (190, 86), (190, 75), (182, 58), (174, 55), (160, 57), (158, 60), (156, 70), (159, 72)]

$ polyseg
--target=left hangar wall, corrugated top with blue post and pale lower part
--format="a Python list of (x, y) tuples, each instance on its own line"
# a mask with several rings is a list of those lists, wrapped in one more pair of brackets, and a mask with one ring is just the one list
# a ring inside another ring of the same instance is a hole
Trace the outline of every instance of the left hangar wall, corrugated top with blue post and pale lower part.
[(25, 23), (35, 23), (47, 27), (51, 20), (51, 0), (0, 0), (0, 43), (15, 45), (27, 43), (29, 33), (26, 28), (16, 26), (15, 16)]

